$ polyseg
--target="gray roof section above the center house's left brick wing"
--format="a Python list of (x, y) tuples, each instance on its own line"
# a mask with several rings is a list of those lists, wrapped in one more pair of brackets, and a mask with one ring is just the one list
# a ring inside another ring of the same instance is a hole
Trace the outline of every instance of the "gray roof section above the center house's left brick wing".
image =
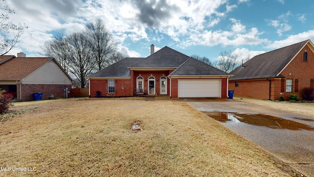
[(125, 58), (88, 77), (131, 77), (129, 66), (144, 58)]

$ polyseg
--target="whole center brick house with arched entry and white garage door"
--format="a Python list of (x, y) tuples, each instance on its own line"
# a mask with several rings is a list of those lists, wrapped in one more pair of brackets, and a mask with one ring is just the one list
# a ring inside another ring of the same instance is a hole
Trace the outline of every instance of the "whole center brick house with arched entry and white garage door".
[(125, 58), (88, 76), (90, 97), (228, 97), (230, 74), (169, 47), (154, 48), (147, 58)]

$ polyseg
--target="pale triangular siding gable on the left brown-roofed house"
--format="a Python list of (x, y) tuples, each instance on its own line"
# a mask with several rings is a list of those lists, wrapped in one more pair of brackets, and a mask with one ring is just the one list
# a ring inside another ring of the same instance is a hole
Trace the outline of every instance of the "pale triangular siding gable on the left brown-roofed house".
[(72, 84), (71, 79), (53, 60), (22, 79), (24, 84)]

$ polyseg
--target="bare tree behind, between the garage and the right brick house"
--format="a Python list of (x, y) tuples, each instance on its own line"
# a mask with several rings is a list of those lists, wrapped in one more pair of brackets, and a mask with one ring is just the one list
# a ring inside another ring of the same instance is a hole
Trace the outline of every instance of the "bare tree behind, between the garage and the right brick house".
[(240, 56), (234, 54), (231, 51), (223, 51), (220, 52), (218, 60), (215, 61), (214, 66), (222, 71), (227, 73), (234, 70), (237, 66), (239, 66)]

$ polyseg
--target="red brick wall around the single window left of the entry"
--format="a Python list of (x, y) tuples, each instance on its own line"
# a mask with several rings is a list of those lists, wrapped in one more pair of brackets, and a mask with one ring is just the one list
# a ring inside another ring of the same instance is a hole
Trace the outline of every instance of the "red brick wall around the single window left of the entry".
[[(130, 79), (115, 79), (116, 82), (116, 93), (107, 93), (107, 80), (105, 79), (92, 79), (90, 80), (90, 97), (96, 97), (96, 91), (100, 91), (100, 96), (133, 96), (131, 91), (131, 80)], [(123, 89), (122, 89), (123, 88)]]

